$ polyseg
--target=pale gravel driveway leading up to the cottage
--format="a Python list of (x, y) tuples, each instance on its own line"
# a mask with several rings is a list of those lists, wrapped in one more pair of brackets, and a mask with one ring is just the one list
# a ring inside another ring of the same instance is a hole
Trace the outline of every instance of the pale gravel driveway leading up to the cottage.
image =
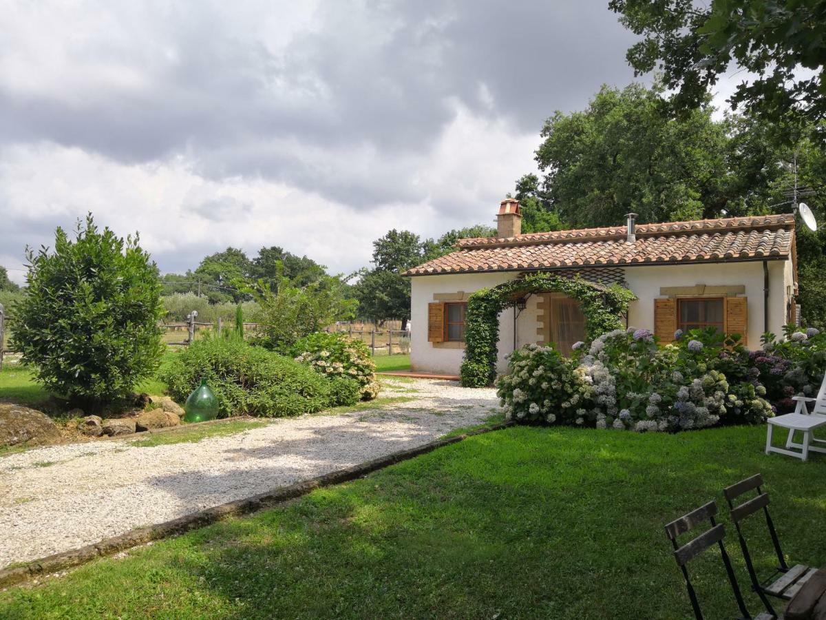
[(493, 389), (387, 380), (409, 402), (168, 446), (93, 441), (0, 458), (0, 568), (432, 441), (490, 417)]

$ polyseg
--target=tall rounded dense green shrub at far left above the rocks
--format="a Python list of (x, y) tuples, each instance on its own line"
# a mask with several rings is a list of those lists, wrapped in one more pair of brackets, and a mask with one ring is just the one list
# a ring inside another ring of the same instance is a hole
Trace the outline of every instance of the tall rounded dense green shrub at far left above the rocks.
[(27, 252), (26, 297), (14, 304), (13, 347), (47, 389), (81, 403), (131, 393), (162, 352), (158, 268), (140, 249), (89, 215), (55, 250)]

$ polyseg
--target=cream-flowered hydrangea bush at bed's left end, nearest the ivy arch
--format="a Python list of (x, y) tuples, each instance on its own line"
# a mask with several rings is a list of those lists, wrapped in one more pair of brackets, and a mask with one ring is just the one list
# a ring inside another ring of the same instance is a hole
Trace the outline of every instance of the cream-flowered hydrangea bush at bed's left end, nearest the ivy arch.
[(510, 355), (510, 374), (496, 380), (507, 419), (570, 423), (590, 402), (591, 388), (553, 346), (529, 345)]

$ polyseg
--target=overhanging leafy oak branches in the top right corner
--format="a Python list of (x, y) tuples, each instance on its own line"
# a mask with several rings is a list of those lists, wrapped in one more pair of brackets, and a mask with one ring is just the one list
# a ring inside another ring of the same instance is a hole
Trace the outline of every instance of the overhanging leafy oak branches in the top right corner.
[(826, 0), (610, 0), (642, 41), (627, 54), (637, 74), (662, 71), (675, 103), (695, 109), (736, 64), (743, 79), (730, 102), (767, 122), (826, 118)]

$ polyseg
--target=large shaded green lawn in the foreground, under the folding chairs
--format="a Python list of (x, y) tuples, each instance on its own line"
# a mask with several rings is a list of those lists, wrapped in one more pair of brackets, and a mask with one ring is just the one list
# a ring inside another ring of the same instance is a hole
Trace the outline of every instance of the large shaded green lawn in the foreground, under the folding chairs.
[[(711, 498), (722, 503), (724, 485), (748, 475), (767, 480), (786, 552), (826, 564), (826, 459), (763, 455), (764, 432), (514, 427), (474, 436), (10, 589), (0, 617), (688, 618), (662, 526)], [(721, 506), (728, 524), (727, 513)], [(757, 612), (730, 535), (729, 551)], [(771, 565), (769, 545), (755, 551)], [(700, 556), (691, 569), (706, 617), (732, 618), (719, 557)]]

